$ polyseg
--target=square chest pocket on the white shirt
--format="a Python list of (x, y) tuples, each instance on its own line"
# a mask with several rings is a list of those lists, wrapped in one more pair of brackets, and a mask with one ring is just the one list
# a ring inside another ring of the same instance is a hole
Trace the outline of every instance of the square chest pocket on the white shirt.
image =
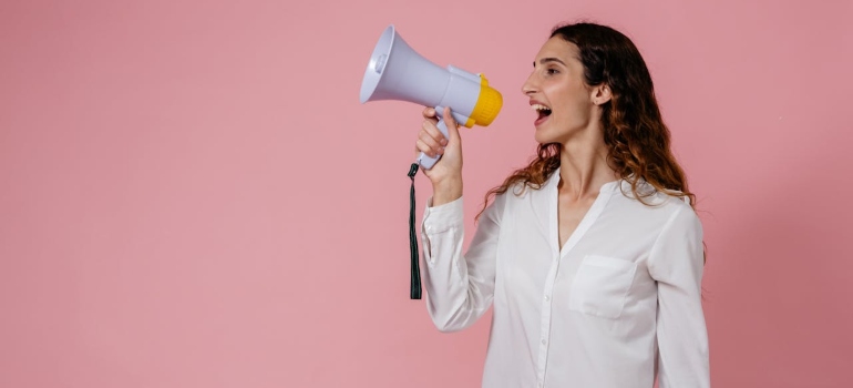
[(635, 263), (621, 258), (584, 257), (572, 284), (568, 309), (603, 318), (618, 318), (636, 270)]

